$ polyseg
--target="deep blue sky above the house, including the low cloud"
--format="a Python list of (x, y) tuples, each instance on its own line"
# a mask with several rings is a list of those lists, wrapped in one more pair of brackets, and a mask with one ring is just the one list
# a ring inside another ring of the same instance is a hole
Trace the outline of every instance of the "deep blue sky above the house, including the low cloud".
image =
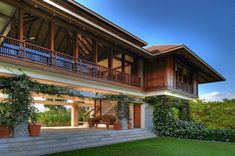
[(77, 0), (150, 45), (185, 44), (225, 82), (199, 95), (235, 98), (235, 0)]

